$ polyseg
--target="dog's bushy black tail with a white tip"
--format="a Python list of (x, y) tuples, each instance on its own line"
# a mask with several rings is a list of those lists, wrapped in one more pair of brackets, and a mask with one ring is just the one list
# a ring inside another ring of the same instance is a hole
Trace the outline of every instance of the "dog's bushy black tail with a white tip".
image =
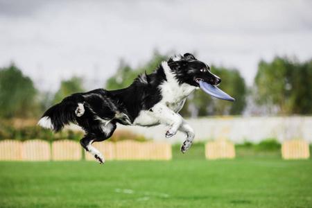
[(81, 104), (76, 101), (75, 97), (74, 95), (68, 96), (62, 102), (50, 107), (37, 124), (58, 132), (64, 128), (64, 125), (76, 123), (75, 111)]

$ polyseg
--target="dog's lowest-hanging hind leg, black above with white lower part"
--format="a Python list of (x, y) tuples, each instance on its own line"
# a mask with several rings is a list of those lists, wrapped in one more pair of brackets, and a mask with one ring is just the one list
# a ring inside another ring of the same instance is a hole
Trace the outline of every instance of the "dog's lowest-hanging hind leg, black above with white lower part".
[(92, 133), (85, 135), (85, 137), (80, 140), (80, 144), (85, 150), (87, 150), (87, 152), (91, 153), (100, 164), (103, 164), (105, 159), (102, 153), (92, 146), (92, 144), (94, 141), (104, 141), (105, 139), (110, 138), (115, 129), (116, 123), (110, 122), (105, 125), (103, 124), (101, 125), (101, 129), (93, 130)]

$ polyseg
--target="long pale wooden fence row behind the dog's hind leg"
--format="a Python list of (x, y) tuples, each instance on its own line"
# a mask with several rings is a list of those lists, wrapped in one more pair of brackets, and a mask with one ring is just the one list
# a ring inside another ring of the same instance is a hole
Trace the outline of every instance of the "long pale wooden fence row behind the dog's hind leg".
[[(103, 153), (105, 159), (159, 159), (172, 158), (171, 145), (138, 142), (138, 141), (110, 141), (95, 142), (94, 147)], [(0, 141), (0, 160), (14, 161), (66, 161), (80, 160), (83, 158), (83, 148), (77, 141), (61, 140), (48, 141), (40, 139), (28, 141), (3, 140)], [(85, 153), (86, 160), (94, 157)]]

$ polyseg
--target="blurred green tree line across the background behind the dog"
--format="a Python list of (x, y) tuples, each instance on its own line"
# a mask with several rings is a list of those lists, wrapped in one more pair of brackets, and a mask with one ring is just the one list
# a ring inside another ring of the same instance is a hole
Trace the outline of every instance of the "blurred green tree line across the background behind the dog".
[[(150, 73), (168, 58), (154, 53), (139, 67), (122, 61), (114, 76), (103, 85), (106, 89), (128, 87), (140, 73)], [(275, 57), (261, 60), (251, 87), (246, 86), (238, 69), (211, 65), (211, 71), (223, 82), (220, 89), (236, 98), (234, 103), (211, 98), (201, 90), (187, 98), (183, 116), (239, 115), (249, 109), (250, 114), (311, 114), (312, 113), (312, 60), (300, 62), (295, 58)], [(10, 64), (0, 69), (0, 118), (37, 117), (47, 107), (62, 101), (75, 92), (85, 91), (83, 79), (62, 80), (54, 94), (35, 88), (33, 80)]]

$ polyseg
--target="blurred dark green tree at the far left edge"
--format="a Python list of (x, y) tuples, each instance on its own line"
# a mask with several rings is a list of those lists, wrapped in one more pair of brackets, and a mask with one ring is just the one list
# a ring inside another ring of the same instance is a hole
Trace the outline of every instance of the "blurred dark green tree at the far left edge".
[(27, 117), (37, 114), (37, 90), (31, 78), (15, 66), (0, 69), (0, 116)]

